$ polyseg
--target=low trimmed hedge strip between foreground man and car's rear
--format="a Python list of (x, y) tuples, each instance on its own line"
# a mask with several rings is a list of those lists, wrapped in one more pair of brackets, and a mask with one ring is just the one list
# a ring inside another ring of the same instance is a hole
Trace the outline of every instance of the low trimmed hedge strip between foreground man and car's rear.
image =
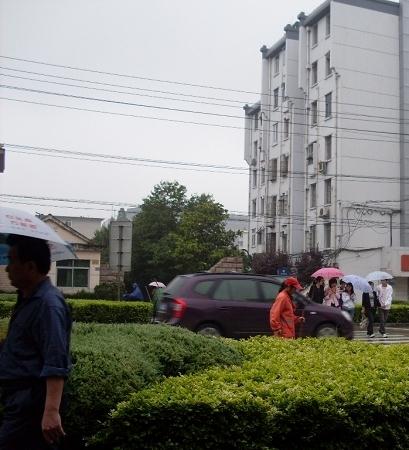
[(72, 318), (77, 322), (149, 323), (152, 304), (113, 300), (67, 300)]

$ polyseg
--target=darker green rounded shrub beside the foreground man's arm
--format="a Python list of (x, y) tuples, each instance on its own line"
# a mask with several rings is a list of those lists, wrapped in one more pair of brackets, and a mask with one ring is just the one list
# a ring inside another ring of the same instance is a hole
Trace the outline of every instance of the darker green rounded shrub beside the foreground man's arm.
[(76, 449), (129, 393), (167, 376), (242, 361), (222, 339), (160, 325), (75, 324), (72, 354), (64, 423)]

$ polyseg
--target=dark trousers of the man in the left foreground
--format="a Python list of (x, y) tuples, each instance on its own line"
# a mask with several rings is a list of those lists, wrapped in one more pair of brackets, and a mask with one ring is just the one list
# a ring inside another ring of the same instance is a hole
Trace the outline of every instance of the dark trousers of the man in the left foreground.
[(0, 450), (52, 450), (43, 438), (45, 381), (2, 386), (4, 407), (0, 426)]

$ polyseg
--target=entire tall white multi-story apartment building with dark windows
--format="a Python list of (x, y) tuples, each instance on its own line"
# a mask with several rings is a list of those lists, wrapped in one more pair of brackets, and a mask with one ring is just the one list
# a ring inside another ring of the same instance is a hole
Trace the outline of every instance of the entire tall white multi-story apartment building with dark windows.
[(348, 273), (392, 272), (407, 296), (408, 19), (409, 0), (327, 0), (261, 49), (260, 101), (245, 107), (250, 252), (326, 250)]

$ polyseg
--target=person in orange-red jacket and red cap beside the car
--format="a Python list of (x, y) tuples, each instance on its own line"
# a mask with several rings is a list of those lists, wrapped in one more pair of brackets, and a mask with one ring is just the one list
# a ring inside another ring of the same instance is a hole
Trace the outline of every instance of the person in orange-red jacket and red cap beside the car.
[(305, 322), (304, 317), (295, 315), (295, 305), (292, 295), (302, 289), (297, 278), (289, 277), (283, 282), (283, 287), (270, 309), (270, 326), (273, 335), (286, 339), (295, 339), (295, 326)]

